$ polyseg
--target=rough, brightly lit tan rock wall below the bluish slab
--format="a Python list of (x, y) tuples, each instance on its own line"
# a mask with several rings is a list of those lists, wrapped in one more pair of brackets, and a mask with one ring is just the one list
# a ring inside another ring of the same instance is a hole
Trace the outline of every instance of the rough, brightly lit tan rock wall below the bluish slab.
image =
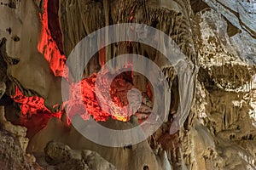
[(204, 10), (196, 14), (196, 20), (201, 29), (201, 68), (190, 128), (182, 138), (192, 147), (182, 144), (183, 161), (191, 169), (253, 169), (255, 67), (237, 53), (243, 49), (229, 37), (227, 21), (217, 12)]

